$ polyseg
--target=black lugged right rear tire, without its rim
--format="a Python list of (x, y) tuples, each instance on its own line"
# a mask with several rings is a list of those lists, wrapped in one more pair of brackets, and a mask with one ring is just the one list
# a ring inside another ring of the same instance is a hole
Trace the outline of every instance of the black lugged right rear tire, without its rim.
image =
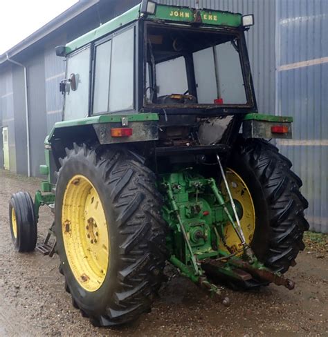
[(242, 177), (253, 198), (255, 255), (266, 267), (285, 273), (304, 249), (303, 233), (309, 229), (302, 181), (291, 171), (291, 162), (262, 139), (239, 139), (229, 167)]

